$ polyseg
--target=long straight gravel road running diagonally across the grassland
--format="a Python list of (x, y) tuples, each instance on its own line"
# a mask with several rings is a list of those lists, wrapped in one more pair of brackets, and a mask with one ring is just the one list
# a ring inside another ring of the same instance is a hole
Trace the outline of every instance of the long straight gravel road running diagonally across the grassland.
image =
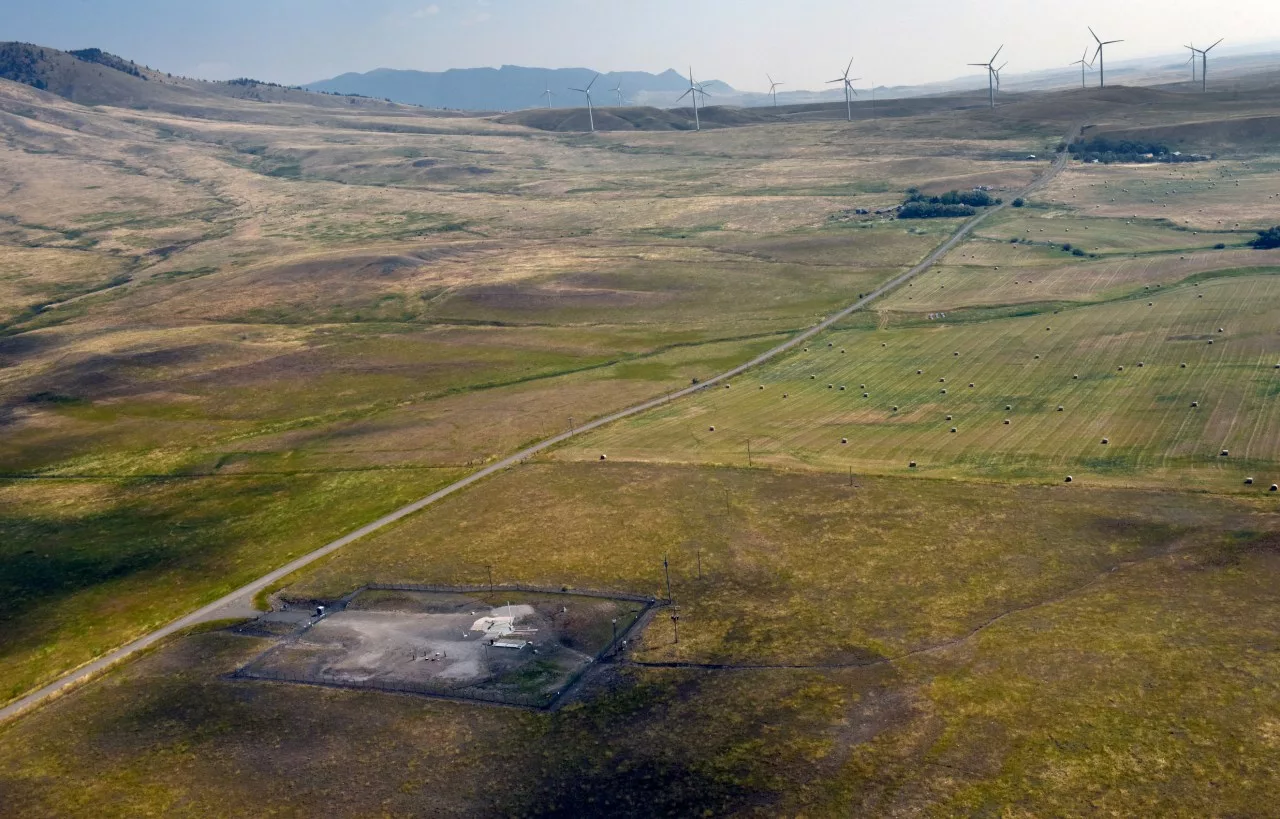
[[(1080, 133), (1082, 128), (1083, 128), (1083, 125), (1074, 127), (1071, 129), (1071, 132), (1068, 134), (1066, 141), (1068, 142), (1074, 141), (1075, 137)], [(1036, 182), (1033, 182), (1032, 184), (1029, 184), (1025, 188), (1023, 188), (1021, 191), (1019, 191), (1016, 196), (1028, 196), (1028, 195), (1034, 193), (1036, 191), (1041, 189), (1046, 184), (1048, 184), (1055, 177), (1057, 177), (1059, 173), (1062, 171), (1064, 168), (1066, 168), (1066, 163), (1069, 161), (1069, 159), (1070, 159), (1070, 155), (1066, 151), (1062, 151), (1061, 154), (1059, 154), (1053, 159), (1053, 164), (1050, 166), (1050, 169), (1044, 174), (1042, 174), (1038, 179), (1036, 179)], [(987, 219), (989, 219), (992, 214), (1000, 212), (1005, 207), (1009, 207), (1009, 203), (997, 205), (996, 207), (992, 207), (992, 209), (989, 209), (989, 210), (987, 210), (987, 211), (984, 211), (982, 214), (978, 214), (977, 216), (974, 216), (973, 219), (970, 219), (969, 221), (966, 221), (959, 230), (955, 232), (955, 234), (951, 235), (951, 238), (948, 238), (946, 242), (943, 242), (937, 250), (934, 250), (932, 253), (929, 253), (928, 257), (925, 257), (924, 261), (922, 261), (916, 266), (911, 267), (910, 270), (908, 270), (902, 275), (892, 279), (891, 282), (881, 285), (873, 293), (869, 293), (869, 294), (864, 296), (863, 298), (860, 298), (859, 301), (854, 302), (849, 307), (841, 310), (840, 312), (823, 319), (819, 324), (815, 324), (814, 326), (809, 328), (804, 333), (801, 333), (801, 334), (791, 338), (790, 340), (787, 340), (787, 342), (785, 342), (782, 344), (778, 344), (777, 347), (774, 347), (773, 349), (769, 349), (768, 352), (764, 352), (764, 353), (756, 356), (751, 361), (748, 361), (744, 365), (733, 367), (728, 372), (722, 372), (721, 375), (717, 375), (717, 376), (714, 376), (712, 379), (708, 379), (708, 380), (705, 380), (705, 381), (703, 381), (703, 383), (700, 383), (700, 384), (698, 384), (695, 386), (687, 386), (687, 388), (681, 389), (678, 392), (671, 393), (669, 395), (663, 395), (662, 398), (654, 398), (654, 399), (646, 401), (646, 402), (644, 402), (641, 404), (635, 404), (634, 407), (627, 407), (626, 410), (620, 410), (618, 412), (614, 412), (612, 415), (604, 416), (602, 418), (596, 418), (595, 421), (591, 421), (590, 424), (584, 424), (584, 425), (577, 426), (577, 427), (575, 427), (575, 429), (572, 429), (572, 430), (570, 430), (567, 433), (561, 433), (559, 435), (556, 435), (554, 438), (548, 438), (547, 440), (539, 441), (539, 443), (534, 444), (532, 447), (529, 447), (527, 449), (522, 449), (521, 452), (517, 452), (516, 454), (513, 454), (513, 456), (511, 456), (508, 458), (504, 458), (504, 459), (498, 461), (495, 463), (490, 463), (489, 466), (484, 467), (479, 472), (468, 475), (467, 477), (463, 477), (462, 480), (460, 480), (457, 482), (449, 484), (448, 486), (445, 486), (444, 489), (440, 489), (439, 491), (431, 493), (430, 495), (428, 495), (428, 497), (425, 497), (425, 498), (422, 498), (420, 500), (415, 500), (413, 503), (411, 503), (411, 504), (408, 504), (406, 507), (396, 509), (390, 514), (380, 517), (376, 521), (374, 521), (372, 523), (369, 523), (366, 526), (361, 526), (356, 531), (353, 531), (353, 532), (351, 532), (351, 534), (348, 534), (348, 535), (346, 535), (343, 537), (339, 537), (338, 540), (334, 540), (333, 543), (326, 544), (326, 545), (316, 549), (315, 552), (305, 554), (301, 558), (297, 558), (296, 561), (293, 561), (291, 563), (287, 563), (285, 566), (282, 566), (280, 568), (264, 575), (262, 577), (259, 577), (257, 580), (255, 580), (253, 582), (248, 584), (247, 586), (242, 586), (242, 587), (237, 589), (236, 591), (228, 594), (227, 596), (210, 603), (209, 605), (204, 607), (202, 609), (192, 612), (191, 614), (187, 614), (184, 617), (179, 617), (178, 619), (173, 621), (168, 626), (157, 628), (156, 631), (152, 631), (151, 633), (148, 633), (148, 635), (146, 635), (143, 637), (138, 637), (133, 642), (123, 645), (119, 649), (111, 651), (110, 654), (106, 654), (106, 655), (99, 658), (97, 660), (93, 660), (92, 663), (90, 663), (87, 665), (82, 665), (81, 668), (78, 668), (78, 669), (68, 673), (67, 676), (64, 676), (64, 677), (61, 677), (61, 678), (59, 678), (59, 680), (49, 683), (47, 686), (45, 686), (42, 688), (38, 688), (36, 691), (32, 691), (31, 694), (28, 694), (28, 695), (26, 695), (26, 696), (23, 696), (20, 699), (18, 699), (18, 700), (14, 700), (9, 705), (6, 705), (4, 708), (0, 708), (0, 722), (4, 722), (4, 720), (6, 720), (6, 719), (9, 719), (12, 717), (15, 717), (20, 712), (24, 712), (24, 710), (27, 710), (29, 708), (33, 708), (33, 706), (38, 705), (40, 703), (47, 700), (49, 697), (52, 697), (52, 696), (56, 696), (59, 694), (64, 694), (64, 692), (69, 691), (70, 688), (73, 688), (73, 687), (83, 683), (83, 682), (91, 680), (99, 672), (102, 672), (106, 668), (110, 668), (111, 665), (115, 665), (116, 663), (120, 663), (122, 660), (132, 656), (133, 654), (137, 654), (138, 651), (146, 650), (147, 648), (155, 645), (156, 642), (159, 642), (159, 641), (164, 640), (165, 637), (169, 637), (169, 636), (172, 636), (172, 635), (174, 635), (174, 633), (177, 633), (179, 631), (183, 631), (186, 628), (191, 628), (192, 626), (197, 626), (200, 623), (207, 623), (207, 622), (211, 622), (211, 621), (253, 617), (255, 614), (257, 614), (257, 609), (253, 607), (253, 598), (257, 596), (259, 592), (261, 592), (265, 589), (269, 589), (270, 586), (275, 585), (276, 582), (284, 580), (285, 577), (288, 577), (293, 572), (298, 571), (300, 568), (302, 568), (302, 567), (305, 567), (305, 566), (307, 566), (310, 563), (314, 563), (315, 561), (319, 561), (320, 558), (323, 558), (323, 557), (325, 557), (328, 554), (332, 554), (333, 552), (337, 552), (338, 549), (342, 549), (347, 544), (353, 543), (356, 540), (360, 540), (365, 535), (370, 535), (370, 534), (378, 531), (379, 529), (383, 529), (385, 526), (389, 526), (389, 525), (394, 523), (396, 521), (399, 521), (401, 518), (408, 517), (410, 514), (413, 514), (415, 512), (419, 512), (419, 511), (421, 511), (421, 509), (431, 505), (433, 503), (436, 503), (438, 500), (442, 500), (442, 499), (444, 499), (444, 498), (447, 498), (447, 497), (449, 497), (449, 495), (452, 495), (452, 494), (454, 494), (454, 493), (457, 493), (457, 491), (460, 491), (462, 489), (466, 489), (467, 486), (470, 486), (471, 484), (475, 484), (476, 481), (481, 481), (481, 480), (489, 477), (490, 475), (495, 475), (498, 472), (502, 472), (502, 471), (504, 471), (504, 470), (507, 470), (507, 468), (509, 468), (512, 466), (516, 466), (521, 461), (525, 461), (526, 458), (530, 458), (530, 457), (532, 457), (532, 456), (535, 456), (535, 454), (538, 454), (538, 453), (540, 453), (540, 452), (543, 452), (545, 449), (549, 449), (549, 448), (552, 448), (552, 447), (554, 447), (557, 444), (562, 444), (566, 440), (570, 440), (571, 438), (575, 438), (575, 436), (581, 435), (584, 433), (590, 433), (591, 430), (602, 427), (602, 426), (604, 426), (607, 424), (612, 424), (614, 421), (630, 417), (632, 415), (637, 415), (640, 412), (646, 412), (649, 410), (653, 410), (655, 407), (660, 407), (662, 404), (668, 403), (671, 401), (675, 401), (677, 398), (684, 398), (685, 395), (691, 395), (691, 394), (694, 394), (694, 393), (696, 393), (699, 390), (707, 389), (709, 386), (714, 386), (717, 384), (721, 384), (722, 381), (726, 381), (728, 379), (736, 378), (736, 376), (741, 375), (742, 372), (746, 372), (748, 370), (750, 370), (753, 367), (756, 367), (756, 366), (764, 363), (765, 361), (769, 361), (771, 358), (776, 358), (777, 356), (781, 356), (782, 353), (785, 353), (785, 352), (787, 352), (787, 351), (790, 351), (790, 349), (792, 349), (792, 348), (795, 348), (795, 347), (797, 347), (800, 344), (804, 344), (805, 342), (808, 342), (813, 337), (818, 335), (823, 330), (827, 330), (828, 328), (831, 328), (837, 321), (841, 321), (842, 319), (847, 317), (850, 314), (852, 314), (852, 312), (855, 312), (858, 310), (861, 310), (863, 307), (865, 307), (867, 305), (872, 303), (877, 298), (879, 298), (879, 297), (884, 296), (886, 293), (888, 293), (888, 292), (891, 292), (891, 290), (901, 287), (906, 282), (910, 282), (915, 276), (920, 275), (922, 273), (924, 273), (925, 270), (928, 270), (929, 267), (932, 267), (934, 264), (937, 264), (937, 261), (940, 258), (942, 258), (948, 252), (951, 252), (951, 250), (954, 250), (956, 247), (956, 244), (959, 244), (960, 242), (963, 242), (970, 233), (973, 233), (974, 229), (978, 228), (978, 225), (980, 225), (983, 221), (986, 221)]]

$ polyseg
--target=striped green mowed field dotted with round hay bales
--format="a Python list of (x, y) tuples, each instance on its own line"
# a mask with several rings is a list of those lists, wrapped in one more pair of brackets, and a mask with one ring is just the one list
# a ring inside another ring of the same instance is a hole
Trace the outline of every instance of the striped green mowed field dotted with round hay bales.
[(1080, 307), (884, 314), (557, 457), (746, 465), (750, 440), (783, 467), (1266, 491), (1277, 320), (1280, 276), (1257, 270)]

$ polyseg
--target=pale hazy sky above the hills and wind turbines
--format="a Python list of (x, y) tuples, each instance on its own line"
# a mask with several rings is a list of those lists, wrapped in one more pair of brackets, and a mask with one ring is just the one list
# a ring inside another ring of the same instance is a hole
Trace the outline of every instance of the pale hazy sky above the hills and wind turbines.
[[(0, 0), (0, 40), (97, 46), (209, 79), (305, 83), (372, 68), (686, 69), (744, 90), (814, 88), (852, 56), (859, 84), (970, 73), (1007, 44), (1009, 73), (1226, 37), (1280, 38), (1276, 0)], [(872, 82), (868, 82), (872, 81)]]

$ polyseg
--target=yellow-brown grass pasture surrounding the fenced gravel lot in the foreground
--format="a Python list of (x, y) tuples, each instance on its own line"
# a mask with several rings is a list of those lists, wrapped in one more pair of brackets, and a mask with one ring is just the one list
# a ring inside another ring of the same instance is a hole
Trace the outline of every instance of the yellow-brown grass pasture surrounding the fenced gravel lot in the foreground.
[(529, 465), (283, 594), (486, 564), (660, 592), (666, 555), (678, 645), (662, 610), (580, 704), (538, 714), (233, 681), (262, 642), (195, 635), (0, 729), (0, 793), (96, 816), (1265, 815), (1268, 507)]

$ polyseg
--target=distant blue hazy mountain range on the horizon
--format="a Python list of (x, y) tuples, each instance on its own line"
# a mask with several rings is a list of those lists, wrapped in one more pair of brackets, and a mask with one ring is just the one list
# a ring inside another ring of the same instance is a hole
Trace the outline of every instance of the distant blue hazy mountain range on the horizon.
[[(396, 102), (436, 109), (467, 111), (516, 111), (547, 105), (550, 88), (557, 107), (585, 106), (585, 97), (571, 88), (585, 88), (596, 76), (586, 68), (456, 68), (447, 72), (413, 72), (379, 68), (365, 74), (342, 74), (305, 86), (308, 91), (358, 93)], [(622, 86), (625, 105), (671, 105), (689, 90), (689, 77), (676, 70), (660, 74), (648, 72), (602, 73), (591, 87), (591, 99), (599, 106), (616, 106)], [(736, 96), (733, 88), (719, 81), (704, 82), (713, 97)]]

